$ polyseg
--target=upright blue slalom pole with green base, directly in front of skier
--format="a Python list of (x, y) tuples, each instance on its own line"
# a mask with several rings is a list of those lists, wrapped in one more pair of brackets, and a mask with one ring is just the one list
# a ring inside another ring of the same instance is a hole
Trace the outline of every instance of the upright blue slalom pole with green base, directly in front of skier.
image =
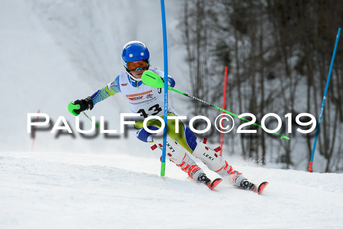
[(161, 0), (162, 12), (162, 30), (163, 30), (163, 56), (164, 56), (164, 123), (163, 130), (163, 148), (161, 160), (161, 177), (164, 178), (166, 171), (166, 145), (167, 145), (167, 121), (168, 121), (168, 52), (167, 52), (167, 28), (166, 28), (166, 11), (164, 0)]

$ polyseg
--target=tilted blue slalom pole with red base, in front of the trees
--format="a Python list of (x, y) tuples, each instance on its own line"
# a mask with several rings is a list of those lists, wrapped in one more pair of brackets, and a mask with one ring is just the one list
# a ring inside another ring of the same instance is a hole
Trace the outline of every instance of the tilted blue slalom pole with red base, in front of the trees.
[(320, 128), (320, 121), (321, 117), (323, 116), (323, 111), (324, 111), (324, 105), (325, 105), (325, 100), (326, 100), (326, 93), (327, 89), (329, 87), (329, 82), (330, 82), (330, 77), (331, 77), (331, 72), (332, 72), (332, 66), (334, 65), (334, 60), (335, 60), (335, 55), (336, 55), (336, 50), (337, 50), (337, 45), (338, 45), (338, 40), (340, 39), (340, 33), (341, 33), (341, 28), (338, 28), (337, 36), (336, 36), (336, 43), (335, 43), (335, 48), (334, 48), (334, 53), (332, 54), (331, 58), (331, 64), (330, 64), (330, 69), (329, 69), (329, 74), (327, 76), (326, 80), (326, 86), (325, 86), (325, 91), (324, 91), (324, 96), (323, 96), (323, 101), (321, 102), (321, 108), (320, 108), (320, 113), (319, 113), (319, 120), (318, 120), (318, 126), (316, 130), (316, 137), (315, 137), (315, 142), (313, 144), (313, 149), (312, 149), (312, 154), (311, 154), (311, 160), (309, 164), (309, 172), (312, 172), (312, 163), (313, 163), (313, 157), (315, 155), (315, 150), (316, 150), (316, 145), (317, 145), (317, 139), (319, 135), (319, 128)]

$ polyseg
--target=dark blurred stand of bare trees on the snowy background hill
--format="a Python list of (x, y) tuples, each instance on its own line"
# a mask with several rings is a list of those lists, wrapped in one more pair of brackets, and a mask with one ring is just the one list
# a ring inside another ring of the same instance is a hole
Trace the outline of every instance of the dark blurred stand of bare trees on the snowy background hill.
[[(307, 169), (306, 163), (298, 160), (310, 158), (314, 133), (299, 134), (295, 116), (307, 112), (319, 118), (342, 15), (343, 2), (333, 0), (185, 1), (183, 31), (188, 63), (191, 73), (199, 76), (192, 77), (192, 92), (219, 102), (219, 93), (210, 90), (221, 85), (220, 74), (211, 73), (221, 72), (226, 65), (230, 69), (227, 93), (235, 98), (229, 100), (228, 109), (255, 114), (257, 122), (265, 113), (277, 113), (281, 118), (292, 114), (290, 141), (261, 129), (257, 134), (229, 134), (226, 137), (232, 152), (241, 152), (244, 158), (260, 164), (270, 160), (284, 164), (284, 168)], [(317, 153), (323, 161), (321, 172), (340, 172), (343, 167), (342, 54), (343, 46), (339, 46), (322, 117)], [(206, 113), (198, 105), (194, 104), (194, 112)], [(271, 121), (270, 128), (273, 125)], [(283, 131), (287, 131), (285, 125)]]

